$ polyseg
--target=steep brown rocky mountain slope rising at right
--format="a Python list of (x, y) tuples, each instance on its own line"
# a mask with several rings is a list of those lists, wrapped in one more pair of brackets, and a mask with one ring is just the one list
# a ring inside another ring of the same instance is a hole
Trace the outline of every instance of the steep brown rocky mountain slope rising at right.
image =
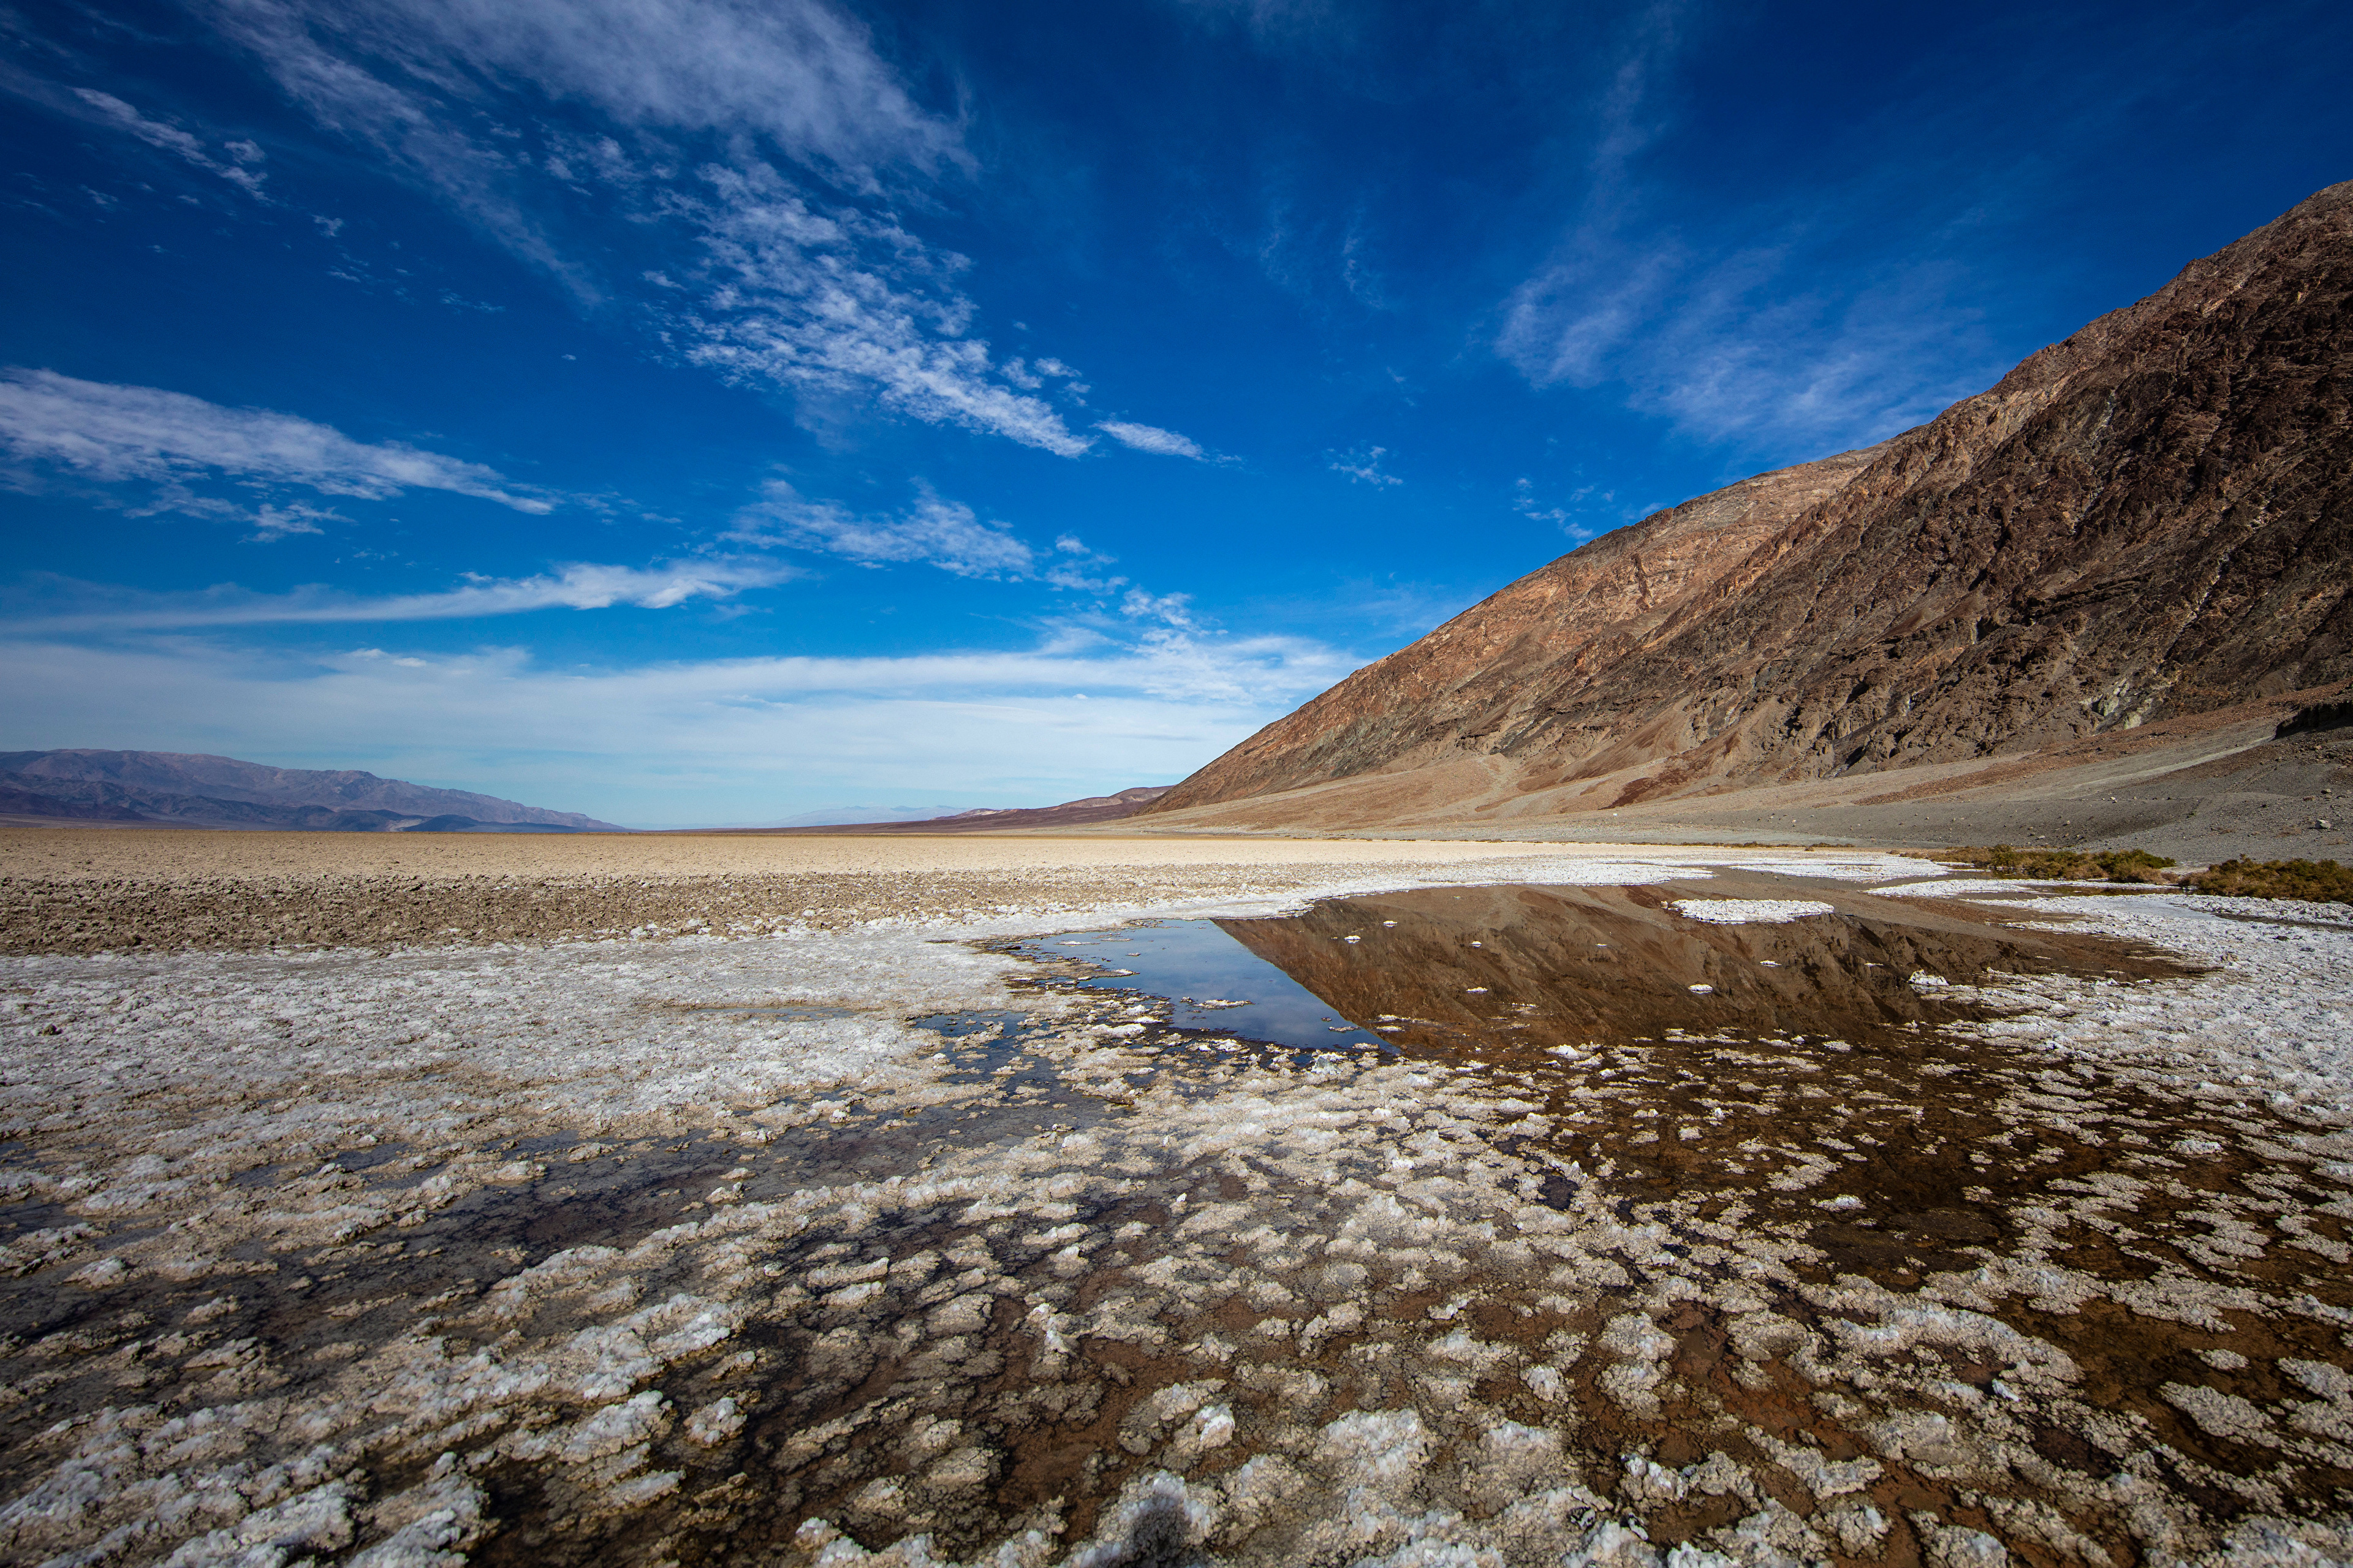
[(1562, 556), (1146, 812), (1362, 775), (1593, 810), (2353, 678), (2348, 299), (2353, 181), (1915, 431)]

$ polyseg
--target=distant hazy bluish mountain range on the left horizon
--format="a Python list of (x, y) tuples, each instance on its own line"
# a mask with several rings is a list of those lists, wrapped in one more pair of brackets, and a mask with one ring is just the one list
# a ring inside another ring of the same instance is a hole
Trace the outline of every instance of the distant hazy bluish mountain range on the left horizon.
[(188, 751), (0, 751), (0, 815), (325, 833), (626, 831), (471, 789)]

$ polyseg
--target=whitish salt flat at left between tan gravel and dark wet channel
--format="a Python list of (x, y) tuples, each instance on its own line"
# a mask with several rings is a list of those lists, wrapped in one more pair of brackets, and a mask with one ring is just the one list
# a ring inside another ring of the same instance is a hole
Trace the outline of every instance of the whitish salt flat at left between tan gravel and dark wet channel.
[[(0, 1019), (0, 1038), (28, 1074), (0, 1088), (0, 1107), (38, 1125), (42, 1095), (66, 1092), (118, 1107), (127, 1130), (176, 1121), (146, 1149), (165, 1158), (202, 1156), (214, 1137), (416, 1140), (492, 1107), (574, 1128), (708, 1121), (805, 1107), (849, 1078), (892, 1083), (894, 1067), (936, 1048), (904, 1017), (1002, 1005), (1014, 968), (904, 932), (12, 958), (0, 975), (31, 1001)], [(188, 1135), (191, 1116), (205, 1137)]]

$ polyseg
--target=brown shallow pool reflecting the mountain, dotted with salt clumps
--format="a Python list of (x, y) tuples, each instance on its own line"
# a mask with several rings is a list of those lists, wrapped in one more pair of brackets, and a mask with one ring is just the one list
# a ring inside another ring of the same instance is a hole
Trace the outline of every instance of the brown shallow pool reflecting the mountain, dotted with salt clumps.
[[(1711, 925), (1673, 909), (1685, 897), (1835, 913)], [(1828, 1274), (1892, 1285), (1974, 1267), (1960, 1245), (2014, 1236), (2017, 1205), (2106, 1165), (2066, 1118), (2021, 1118), (2045, 1062), (1939, 1029), (1991, 1017), (1951, 989), (2188, 972), (2113, 937), (1991, 925), (1965, 904), (1741, 873), (1435, 888), (1219, 925), (1337, 1010), (1384, 1019), (1407, 1055), (1482, 1069), (1541, 1104), (1520, 1147), (1548, 1156), (1548, 1191), (1591, 1165), (1621, 1191), (1737, 1203), (1805, 1234)], [(2146, 1114), (2120, 1085), (2104, 1102)], [(1793, 1182), (1805, 1165), (1817, 1172)]]

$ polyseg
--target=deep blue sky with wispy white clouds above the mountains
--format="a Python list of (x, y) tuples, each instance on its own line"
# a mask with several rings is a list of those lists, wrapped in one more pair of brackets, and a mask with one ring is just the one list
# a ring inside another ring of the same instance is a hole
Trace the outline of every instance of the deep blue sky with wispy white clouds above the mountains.
[(2341, 5), (0, 7), (0, 746), (1174, 782), (2353, 177)]

